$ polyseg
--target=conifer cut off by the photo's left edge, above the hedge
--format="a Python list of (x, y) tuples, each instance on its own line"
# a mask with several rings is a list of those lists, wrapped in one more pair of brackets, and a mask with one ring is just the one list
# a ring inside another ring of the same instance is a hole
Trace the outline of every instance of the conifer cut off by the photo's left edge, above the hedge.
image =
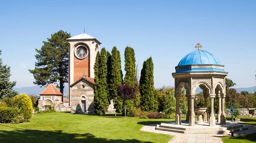
[[(2, 51), (0, 50), (0, 55)], [(18, 92), (13, 90), (16, 85), (16, 81), (10, 81), (11, 67), (3, 65), (2, 59), (0, 58), (0, 98), (3, 96), (14, 97)]]

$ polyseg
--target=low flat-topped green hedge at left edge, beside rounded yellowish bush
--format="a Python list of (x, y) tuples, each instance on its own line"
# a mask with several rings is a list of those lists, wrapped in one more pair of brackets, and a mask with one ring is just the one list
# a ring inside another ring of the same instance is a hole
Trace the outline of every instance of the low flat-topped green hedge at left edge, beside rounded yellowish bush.
[(16, 108), (0, 107), (0, 123), (12, 123), (12, 120), (16, 121), (14, 118), (18, 115), (20, 115), (20, 112)]

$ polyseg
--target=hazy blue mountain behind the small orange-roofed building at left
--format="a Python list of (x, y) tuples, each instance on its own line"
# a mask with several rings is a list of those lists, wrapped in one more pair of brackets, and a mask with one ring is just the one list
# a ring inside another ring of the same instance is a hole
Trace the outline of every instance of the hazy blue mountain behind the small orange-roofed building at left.
[[(15, 91), (20, 93), (26, 93), (27, 95), (38, 95), (39, 93), (41, 93), (42, 91), (44, 91), (45, 87), (40, 87), (40, 86), (33, 86), (33, 87), (15, 87), (13, 88)], [(59, 90), (59, 89), (58, 89)], [(68, 94), (68, 85), (65, 85), (64, 87), (64, 91), (63, 91), (64, 95)]]

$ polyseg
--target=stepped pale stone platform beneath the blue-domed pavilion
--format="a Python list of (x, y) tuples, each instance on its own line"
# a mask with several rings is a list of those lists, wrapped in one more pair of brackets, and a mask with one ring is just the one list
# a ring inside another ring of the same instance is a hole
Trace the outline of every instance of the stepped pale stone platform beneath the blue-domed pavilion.
[(177, 132), (183, 134), (229, 134), (231, 128), (234, 128), (234, 132), (247, 130), (247, 127), (243, 127), (242, 124), (235, 122), (226, 122), (226, 124), (220, 124), (216, 122), (215, 126), (209, 126), (209, 122), (202, 124), (195, 124), (195, 126), (189, 126), (189, 122), (182, 121), (181, 125), (177, 125), (174, 122), (163, 122), (157, 125), (157, 130)]

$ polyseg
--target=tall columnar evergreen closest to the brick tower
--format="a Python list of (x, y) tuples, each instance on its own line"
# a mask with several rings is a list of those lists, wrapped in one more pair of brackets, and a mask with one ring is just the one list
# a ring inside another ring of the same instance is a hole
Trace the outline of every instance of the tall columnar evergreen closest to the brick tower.
[(108, 53), (102, 48), (101, 53), (97, 53), (94, 65), (94, 108), (98, 115), (104, 115), (108, 110), (108, 85), (107, 85), (107, 61)]

